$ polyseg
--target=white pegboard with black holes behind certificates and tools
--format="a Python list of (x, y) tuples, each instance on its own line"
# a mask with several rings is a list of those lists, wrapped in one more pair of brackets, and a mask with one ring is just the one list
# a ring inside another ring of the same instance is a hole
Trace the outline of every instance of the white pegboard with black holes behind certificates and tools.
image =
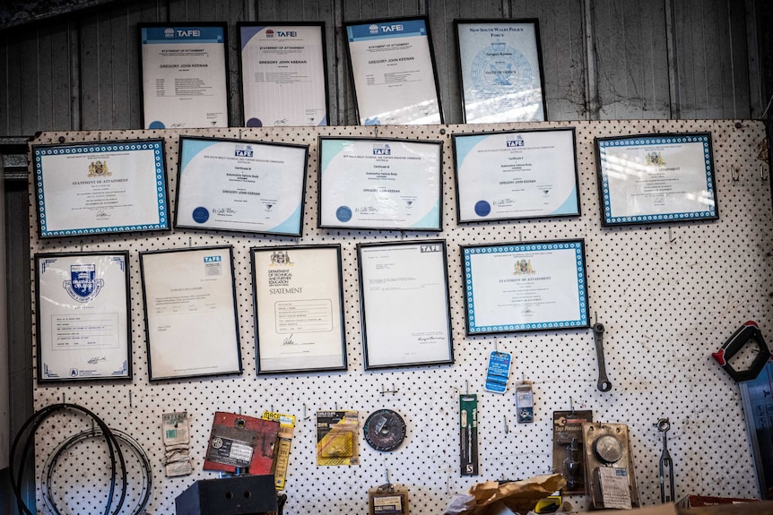
[[(577, 129), (581, 217), (457, 226), (452, 133), (568, 126)], [(594, 138), (669, 132), (712, 133), (719, 219), (601, 227)], [(152, 462), (153, 494), (148, 513), (174, 513), (175, 497), (188, 485), (195, 479), (216, 476), (201, 467), (213, 413), (218, 410), (260, 416), (264, 409), (274, 409), (299, 417), (285, 489), (289, 497), (285, 513), (366, 513), (368, 488), (383, 484), (388, 470), (393, 483), (409, 489), (412, 513), (434, 514), (443, 510), (453, 494), (482, 480), (549, 472), (552, 412), (569, 409), (570, 399), (574, 408), (592, 409), (597, 421), (630, 425), (638, 489), (644, 504), (660, 501), (658, 459), (662, 445), (654, 424), (662, 417), (672, 422), (668, 436), (677, 494), (757, 495), (738, 387), (710, 353), (747, 320), (759, 322), (763, 334), (773, 334), (773, 217), (763, 124), (745, 120), (642, 120), (387, 126), (379, 127), (378, 133), (364, 126), (111, 131), (42, 133), (33, 144), (161, 137), (165, 141), (169, 197), (174, 199), (181, 133), (308, 144), (303, 236), (175, 229), (166, 233), (40, 240), (34, 210), (30, 218), (33, 253), (130, 253), (134, 379), (45, 386), (36, 382), (34, 399), (37, 409), (63, 399), (80, 404), (109, 426), (132, 435)], [(318, 135), (442, 141), (443, 232), (318, 229)], [(439, 237), (447, 241), (455, 365), (365, 372), (355, 245)], [(459, 245), (564, 238), (585, 239), (590, 311), (606, 328), (606, 366), (613, 385), (607, 393), (596, 389), (595, 347), (590, 330), (465, 336)], [(344, 373), (257, 376), (249, 248), (322, 243), (343, 247), (349, 369)], [(244, 373), (151, 384), (138, 253), (205, 245), (234, 247)], [(504, 395), (483, 390), (487, 357), (497, 347), (513, 355), (513, 371)], [(534, 382), (535, 420), (528, 425), (516, 423), (514, 383), (522, 377)], [(458, 396), (467, 389), (478, 394), (481, 409), (481, 475), (477, 477), (459, 474)], [(363, 419), (378, 408), (395, 409), (408, 426), (406, 441), (394, 452), (374, 451), (363, 441), (360, 466), (317, 467), (314, 415), (318, 409), (336, 407), (357, 409)], [(195, 460), (192, 476), (166, 478), (162, 472), (161, 414), (173, 410), (186, 410), (191, 419)], [(51, 451), (70, 434), (88, 427), (88, 421), (71, 416), (59, 416), (56, 423), (42, 425), (36, 439), (38, 477)], [(83, 442), (74, 449), (73, 457), (58, 463), (52, 488), (65, 497), (69, 512), (104, 509), (108, 485), (105, 459), (104, 449), (94, 440)], [(131, 464), (127, 467), (135, 470)], [(130, 488), (136, 498), (142, 485), (135, 483)], [(45, 510), (40, 486), (38, 494), (39, 507)], [(580, 510), (586, 507), (583, 496), (569, 500)]]

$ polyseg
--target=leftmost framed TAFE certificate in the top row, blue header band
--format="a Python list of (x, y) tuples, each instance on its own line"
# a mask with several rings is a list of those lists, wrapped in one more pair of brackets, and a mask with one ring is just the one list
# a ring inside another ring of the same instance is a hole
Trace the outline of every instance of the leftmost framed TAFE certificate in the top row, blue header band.
[(143, 128), (228, 127), (226, 23), (138, 23)]

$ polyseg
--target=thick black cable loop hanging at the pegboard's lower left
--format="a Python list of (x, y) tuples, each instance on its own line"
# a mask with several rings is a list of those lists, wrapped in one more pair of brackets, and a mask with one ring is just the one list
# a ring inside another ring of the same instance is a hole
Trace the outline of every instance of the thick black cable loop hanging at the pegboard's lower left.
[[(80, 411), (86, 416), (91, 417), (91, 420), (94, 421), (96, 425), (100, 427), (100, 431), (102, 432), (102, 436), (105, 439), (105, 442), (108, 445), (108, 453), (109, 453), (109, 463), (110, 463), (110, 488), (108, 493), (108, 502), (105, 506), (105, 511), (103, 512), (104, 515), (109, 515), (110, 510), (113, 506), (113, 502), (115, 501), (114, 495), (116, 490), (116, 480), (117, 480), (117, 465), (116, 465), (116, 456), (118, 458), (118, 461), (120, 463), (120, 475), (121, 475), (121, 483), (123, 485), (123, 488), (121, 488), (121, 494), (117, 500), (115, 511), (113, 511), (114, 514), (117, 514), (121, 511), (121, 508), (123, 507), (124, 500), (126, 498), (126, 462), (124, 460), (123, 452), (121, 451), (116, 437), (113, 435), (113, 433), (110, 431), (110, 428), (108, 425), (106, 425), (102, 419), (99, 416), (96, 416), (94, 413), (92, 413), (89, 409), (83, 408), (82, 406), (78, 406), (76, 404), (68, 404), (68, 403), (58, 403), (58, 404), (52, 404), (50, 406), (47, 406), (46, 408), (41, 408), (35, 413), (30, 416), (30, 418), (27, 419), (27, 421), (22, 425), (22, 428), (19, 430), (19, 433), (16, 433), (16, 437), (13, 439), (13, 443), (11, 444), (11, 456), (10, 456), (10, 476), (11, 476), (11, 489), (13, 490), (13, 495), (16, 497), (16, 506), (20, 513), (24, 513), (26, 515), (34, 515), (32, 511), (30, 511), (30, 508), (27, 507), (27, 504), (24, 502), (24, 499), (22, 497), (22, 477), (24, 476), (24, 463), (27, 460), (27, 457), (30, 454), (30, 450), (32, 449), (32, 445), (35, 442), (35, 433), (37, 432), (39, 426), (48, 419), (48, 417), (55, 415), (56, 413), (60, 411), (65, 410), (74, 410), (74, 411)], [(30, 430), (28, 432), (28, 430)], [(17, 448), (19, 446), (20, 441), (22, 440), (22, 436), (27, 434), (27, 438), (24, 442), (24, 445), (22, 447), (22, 455), (21, 458), (18, 460), (18, 462), (15, 462), (16, 460), (16, 454), (17, 454)], [(18, 466), (16, 465), (18, 463)], [(18, 471), (15, 471), (15, 469), (18, 468)]]

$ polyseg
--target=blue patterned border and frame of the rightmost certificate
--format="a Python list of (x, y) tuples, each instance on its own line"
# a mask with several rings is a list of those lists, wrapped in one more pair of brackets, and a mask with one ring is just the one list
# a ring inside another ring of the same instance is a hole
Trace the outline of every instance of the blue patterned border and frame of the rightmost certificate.
[[(714, 205), (707, 210), (678, 213), (641, 214), (633, 217), (613, 217), (609, 175), (606, 172), (606, 149), (610, 147), (636, 147), (640, 145), (668, 145), (673, 143), (703, 143), (703, 163), (695, 173), (706, 176), (706, 193), (714, 199)], [(596, 166), (599, 176), (599, 196), (602, 200), (602, 225), (617, 226), (628, 224), (651, 224), (694, 219), (718, 219), (719, 204), (714, 174), (714, 154), (711, 148), (711, 133), (639, 134), (620, 138), (596, 138)]]

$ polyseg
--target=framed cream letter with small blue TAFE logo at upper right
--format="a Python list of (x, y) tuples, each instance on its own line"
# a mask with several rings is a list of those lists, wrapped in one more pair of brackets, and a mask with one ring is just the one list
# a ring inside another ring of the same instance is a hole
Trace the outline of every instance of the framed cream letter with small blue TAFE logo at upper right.
[(233, 248), (140, 253), (151, 381), (241, 373)]

